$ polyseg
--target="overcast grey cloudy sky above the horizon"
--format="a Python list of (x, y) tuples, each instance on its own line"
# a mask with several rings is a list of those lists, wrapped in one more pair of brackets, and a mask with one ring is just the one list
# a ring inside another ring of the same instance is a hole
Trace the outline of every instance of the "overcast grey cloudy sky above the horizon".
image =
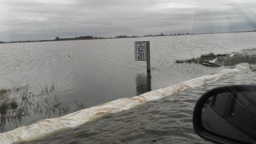
[(256, 0), (0, 0), (0, 41), (256, 30)]

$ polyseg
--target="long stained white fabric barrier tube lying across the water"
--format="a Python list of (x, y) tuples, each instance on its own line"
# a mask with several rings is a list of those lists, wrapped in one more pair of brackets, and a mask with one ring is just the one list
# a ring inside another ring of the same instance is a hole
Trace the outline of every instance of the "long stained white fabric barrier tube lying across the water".
[(113, 114), (120, 111), (126, 111), (145, 102), (161, 99), (188, 88), (199, 87), (206, 83), (211, 83), (249, 69), (250, 65), (248, 63), (241, 63), (234, 66), (233, 69), (218, 71), (211, 75), (205, 75), (166, 88), (153, 90), (132, 98), (120, 98), (90, 108), (82, 109), (62, 117), (39, 120), (34, 124), (21, 126), (12, 131), (1, 133), (0, 144), (16, 144), (46, 137), (53, 133), (100, 119), (105, 117), (108, 113)]

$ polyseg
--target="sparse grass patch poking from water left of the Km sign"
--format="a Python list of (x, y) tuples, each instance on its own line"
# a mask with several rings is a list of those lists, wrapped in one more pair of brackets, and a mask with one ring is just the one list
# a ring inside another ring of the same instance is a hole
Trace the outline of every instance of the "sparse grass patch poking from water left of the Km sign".
[[(21, 123), (25, 117), (39, 115), (50, 118), (55, 115), (68, 114), (70, 105), (76, 105), (73, 111), (87, 108), (87, 105), (77, 100), (73, 102), (63, 101), (57, 97), (56, 84), (40, 86), (38, 94), (31, 91), (29, 80), (24, 86), (0, 89), (0, 132), (4, 132), (9, 125)], [(71, 96), (70, 96), (71, 97)]]

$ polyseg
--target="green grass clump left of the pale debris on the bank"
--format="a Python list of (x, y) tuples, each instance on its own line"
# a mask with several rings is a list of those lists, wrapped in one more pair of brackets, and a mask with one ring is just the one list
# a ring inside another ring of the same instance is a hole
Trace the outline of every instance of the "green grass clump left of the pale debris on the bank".
[(197, 58), (192, 58), (192, 59), (185, 59), (185, 60), (176, 60), (176, 63), (199, 63), (199, 64), (203, 64), (203, 62), (205, 61), (209, 61), (209, 60), (213, 60), (215, 59), (215, 54), (214, 53), (208, 53), (208, 54), (204, 54), (201, 55), (200, 57)]

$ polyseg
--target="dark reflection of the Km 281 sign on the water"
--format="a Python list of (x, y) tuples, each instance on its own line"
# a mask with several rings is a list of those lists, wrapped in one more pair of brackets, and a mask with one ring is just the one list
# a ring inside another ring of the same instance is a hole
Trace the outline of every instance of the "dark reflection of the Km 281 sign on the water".
[(136, 77), (136, 92), (137, 95), (151, 91), (151, 74), (137, 74)]

